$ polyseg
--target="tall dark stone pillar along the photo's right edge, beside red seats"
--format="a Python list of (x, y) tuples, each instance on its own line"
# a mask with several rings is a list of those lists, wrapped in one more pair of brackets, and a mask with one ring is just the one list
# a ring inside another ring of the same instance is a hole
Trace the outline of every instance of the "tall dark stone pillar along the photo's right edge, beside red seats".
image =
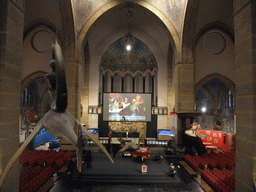
[(256, 183), (256, 2), (234, 1), (236, 68), (236, 191)]

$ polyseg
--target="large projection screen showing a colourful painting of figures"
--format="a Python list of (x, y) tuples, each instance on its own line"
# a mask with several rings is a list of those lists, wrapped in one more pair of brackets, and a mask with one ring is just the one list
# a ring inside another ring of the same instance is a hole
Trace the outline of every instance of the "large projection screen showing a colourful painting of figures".
[(103, 113), (103, 119), (106, 121), (150, 121), (150, 104), (150, 94), (109, 93), (104, 97), (105, 115)]

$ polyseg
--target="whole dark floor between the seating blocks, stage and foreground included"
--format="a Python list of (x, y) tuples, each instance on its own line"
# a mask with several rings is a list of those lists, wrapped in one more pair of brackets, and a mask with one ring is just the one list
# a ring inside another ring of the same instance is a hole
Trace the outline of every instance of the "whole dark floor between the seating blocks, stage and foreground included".
[[(152, 155), (154, 154), (162, 153), (152, 151)], [(134, 161), (131, 157), (113, 158), (115, 163), (112, 164), (100, 150), (93, 149), (92, 158), (92, 168), (86, 168), (84, 164), (82, 174), (77, 171), (72, 176), (62, 174), (49, 192), (204, 191), (183, 165), (170, 157), (165, 157), (161, 163), (146, 161), (146, 174), (142, 174), (142, 163)], [(174, 177), (168, 175), (170, 162), (180, 165)]]

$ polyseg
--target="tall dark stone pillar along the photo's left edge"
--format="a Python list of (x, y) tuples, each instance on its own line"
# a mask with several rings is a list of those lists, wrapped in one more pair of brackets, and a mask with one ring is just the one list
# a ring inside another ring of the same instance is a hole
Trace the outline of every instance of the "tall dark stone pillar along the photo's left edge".
[[(23, 1), (0, 1), (0, 176), (19, 148), (19, 112), (24, 24)], [(19, 163), (1, 192), (19, 191)]]

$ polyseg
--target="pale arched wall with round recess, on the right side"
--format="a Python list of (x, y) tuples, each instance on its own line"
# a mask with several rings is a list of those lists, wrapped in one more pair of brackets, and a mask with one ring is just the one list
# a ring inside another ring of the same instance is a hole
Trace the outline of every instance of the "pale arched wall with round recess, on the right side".
[[(223, 41), (219, 38), (207, 39), (207, 35), (213, 32), (220, 34), (225, 39), (223, 52), (215, 55), (211, 54), (211, 51), (214, 52), (221, 48)], [(234, 43), (226, 33), (219, 29), (205, 32), (198, 40), (195, 49), (195, 83), (212, 73), (220, 73), (235, 82), (234, 51)]]

